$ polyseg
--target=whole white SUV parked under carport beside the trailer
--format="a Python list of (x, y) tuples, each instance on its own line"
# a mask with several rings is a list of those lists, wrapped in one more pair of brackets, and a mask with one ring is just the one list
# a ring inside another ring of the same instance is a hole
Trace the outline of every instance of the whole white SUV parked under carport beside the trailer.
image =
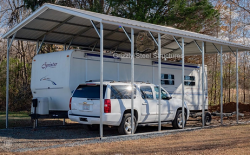
[[(134, 131), (138, 125), (158, 122), (158, 86), (135, 83), (134, 86)], [(103, 83), (103, 124), (118, 126), (120, 134), (131, 134), (131, 84), (125, 82)], [(161, 89), (161, 121), (172, 122), (174, 128), (182, 127), (182, 101), (170, 97)], [(74, 91), (68, 112), (69, 119), (89, 128), (100, 124), (100, 82), (79, 85)], [(189, 110), (185, 104), (185, 120)], [(185, 121), (186, 124), (186, 121)]]

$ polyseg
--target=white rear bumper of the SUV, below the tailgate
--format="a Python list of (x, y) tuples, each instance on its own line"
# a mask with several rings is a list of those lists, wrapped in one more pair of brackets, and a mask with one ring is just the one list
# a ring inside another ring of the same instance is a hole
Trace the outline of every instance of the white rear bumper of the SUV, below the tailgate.
[[(71, 110), (68, 111), (68, 117), (71, 121), (75, 121), (81, 124), (100, 124), (100, 116), (89, 116), (73, 114)], [(108, 113), (103, 114), (102, 122), (104, 125), (119, 126), (121, 122), (121, 114)]]

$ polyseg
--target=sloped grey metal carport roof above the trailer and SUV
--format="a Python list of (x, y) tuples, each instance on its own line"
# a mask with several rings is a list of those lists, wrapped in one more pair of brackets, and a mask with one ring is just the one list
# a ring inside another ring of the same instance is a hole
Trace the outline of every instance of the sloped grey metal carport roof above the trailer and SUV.
[[(227, 42), (211, 36), (202, 35), (190, 31), (184, 31), (167, 26), (160, 26), (135, 20), (85, 11), (76, 8), (64, 7), (53, 4), (44, 4), (25, 20), (3, 35), (7, 39), (16, 33), (15, 39), (25, 41), (42, 40), (51, 44), (65, 44), (71, 42), (72, 46), (85, 48), (99, 48), (99, 36), (96, 33), (91, 21), (95, 22), (97, 28), (102, 22), (104, 26), (104, 49), (130, 52), (130, 41), (119, 26), (124, 26), (128, 34), (130, 28), (134, 28), (135, 37), (139, 32), (151, 31), (157, 38), (157, 33), (162, 35), (162, 53), (181, 54), (181, 49), (175, 42), (173, 36), (181, 42), (185, 38), (185, 55), (199, 55), (195, 40), (200, 45), (205, 42), (205, 53), (217, 53), (214, 45), (223, 52), (249, 51), (250, 47)], [(214, 44), (214, 45), (213, 45)]]

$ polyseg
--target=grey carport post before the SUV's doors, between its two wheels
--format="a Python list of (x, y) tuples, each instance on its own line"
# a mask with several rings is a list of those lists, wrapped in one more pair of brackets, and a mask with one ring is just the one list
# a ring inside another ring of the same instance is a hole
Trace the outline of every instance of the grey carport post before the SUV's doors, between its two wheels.
[(158, 131), (161, 131), (161, 34), (160, 33), (158, 33), (158, 82), (159, 82)]

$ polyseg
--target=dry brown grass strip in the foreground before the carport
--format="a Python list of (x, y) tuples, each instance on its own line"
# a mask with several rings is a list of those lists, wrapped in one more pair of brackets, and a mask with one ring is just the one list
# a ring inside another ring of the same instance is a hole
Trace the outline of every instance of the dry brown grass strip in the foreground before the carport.
[(250, 125), (223, 126), (150, 138), (92, 143), (15, 154), (249, 155), (249, 128)]

